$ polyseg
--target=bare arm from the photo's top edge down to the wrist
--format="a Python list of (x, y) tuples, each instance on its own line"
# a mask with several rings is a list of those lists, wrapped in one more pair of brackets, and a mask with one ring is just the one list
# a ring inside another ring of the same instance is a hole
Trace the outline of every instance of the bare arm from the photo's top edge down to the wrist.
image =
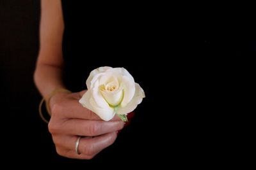
[(61, 79), (63, 31), (61, 1), (41, 1), (40, 51), (34, 80), (44, 97), (54, 89), (65, 88)]

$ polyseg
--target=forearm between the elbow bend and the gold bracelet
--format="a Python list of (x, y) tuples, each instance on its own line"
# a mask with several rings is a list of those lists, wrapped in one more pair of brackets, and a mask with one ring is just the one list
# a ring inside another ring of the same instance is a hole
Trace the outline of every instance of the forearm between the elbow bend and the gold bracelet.
[(38, 63), (34, 81), (42, 96), (46, 97), (55, 89), (65, 89), (62, 80), (62, 68), (50, 64)]

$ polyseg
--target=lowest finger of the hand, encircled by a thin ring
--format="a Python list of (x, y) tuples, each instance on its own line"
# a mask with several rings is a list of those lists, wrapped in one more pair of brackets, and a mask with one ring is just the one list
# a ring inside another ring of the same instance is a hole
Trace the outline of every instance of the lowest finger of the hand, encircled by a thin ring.
[(76, 159), (92, 159), (92, 157), (97, 155), (101, 150), (114, 143), (116, 132), (95, 138), (81, 138), (78, 146), (78, 151), (81, 153), (80, 155), (75, 152), (77, 136), (55, 136), (53, 139), (59, 155)]

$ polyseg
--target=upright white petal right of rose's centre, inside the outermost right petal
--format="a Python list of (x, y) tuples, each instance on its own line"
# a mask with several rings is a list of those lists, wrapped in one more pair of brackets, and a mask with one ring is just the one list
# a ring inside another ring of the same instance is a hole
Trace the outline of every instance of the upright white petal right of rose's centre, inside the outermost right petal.
[(125, 107), (132, 99), (135, 93), (135, 82), (133, 79), (122, 76), (120, 78), (121, 85), (120, 87), (124, 88), (124, 98), (121, 102), (121, 106)]

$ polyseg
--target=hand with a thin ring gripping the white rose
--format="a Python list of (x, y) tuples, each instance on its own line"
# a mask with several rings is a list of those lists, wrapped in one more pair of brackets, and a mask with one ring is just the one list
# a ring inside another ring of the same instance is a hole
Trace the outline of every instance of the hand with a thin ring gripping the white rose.
[[(113, 144), (117, 131), (124, 127), (124, 122), (115, 116), (111, 121), (101, 120), (95, 113), (84, 108), (78, 102), (82, 92), (67, 94), (59, 92), (51, 97), (51, 120), (49, 131), (56, 146), (56, 152), (68, 158), (92, 159), (104, 148)], [(78, 136), (82, 136), (78, 146)]]

